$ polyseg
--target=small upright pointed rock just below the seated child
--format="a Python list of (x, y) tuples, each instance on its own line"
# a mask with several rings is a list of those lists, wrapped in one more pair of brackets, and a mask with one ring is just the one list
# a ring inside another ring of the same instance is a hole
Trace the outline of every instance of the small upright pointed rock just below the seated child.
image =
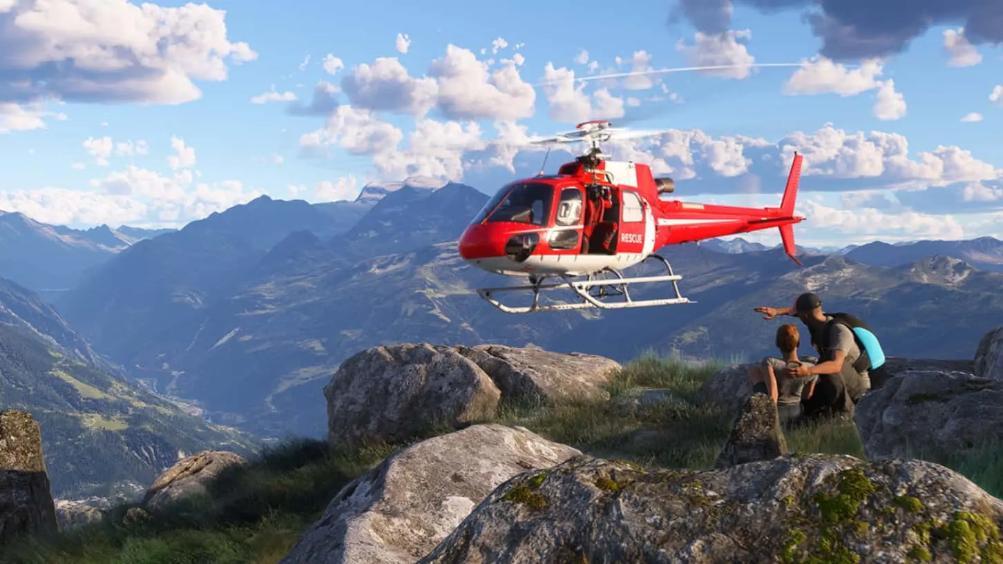
[(772, 460), (785, 454), (787, 440), (780, 430), (776, 404), (765, 394), (753, 394), (735, 420), (714, 468)]

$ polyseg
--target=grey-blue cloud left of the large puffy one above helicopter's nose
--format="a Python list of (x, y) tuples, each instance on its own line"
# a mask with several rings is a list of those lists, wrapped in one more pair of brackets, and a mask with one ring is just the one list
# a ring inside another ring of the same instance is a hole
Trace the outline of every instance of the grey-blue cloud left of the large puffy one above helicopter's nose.
[(379, 57), (362, 63), (341, 79), (352, 104), (359, 108), (424, 115), (435, 104), (433, 78), (413, 78), (397, 57)]

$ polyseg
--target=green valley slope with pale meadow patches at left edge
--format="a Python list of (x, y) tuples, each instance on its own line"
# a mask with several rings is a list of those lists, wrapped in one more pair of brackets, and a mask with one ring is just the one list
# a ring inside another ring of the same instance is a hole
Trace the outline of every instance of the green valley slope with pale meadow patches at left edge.
[(39, 422), (53, 495), (131, 492), (188, 454), (257, 447), (102, 367), (52, 307), (0, 278), (0, 409)]

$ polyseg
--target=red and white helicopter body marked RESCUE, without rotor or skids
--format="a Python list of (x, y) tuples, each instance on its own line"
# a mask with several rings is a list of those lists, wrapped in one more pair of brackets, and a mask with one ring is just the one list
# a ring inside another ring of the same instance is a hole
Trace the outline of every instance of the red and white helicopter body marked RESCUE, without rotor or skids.
[(801, 155), (794, 155), (779, 207), (662, 199), (671, 178), (646, 164), (578, 159), (554, 175), (503, 186), (459, 239), (470, 264), (499, 274), (577, 276), (622, 270), (665, 245), (777, 227), (794, 257), (791, 225)]

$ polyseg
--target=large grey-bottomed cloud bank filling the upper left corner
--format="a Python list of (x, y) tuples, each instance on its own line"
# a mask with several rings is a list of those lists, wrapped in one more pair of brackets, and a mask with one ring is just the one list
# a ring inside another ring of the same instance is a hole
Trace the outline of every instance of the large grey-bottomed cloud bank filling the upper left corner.
[(123, 0), (21, 0), (4, 16), (0, 102), (180, 104), (196, 80), (226, 80), (227, 61), (257, 58), (227, 36), (223, 10)]

